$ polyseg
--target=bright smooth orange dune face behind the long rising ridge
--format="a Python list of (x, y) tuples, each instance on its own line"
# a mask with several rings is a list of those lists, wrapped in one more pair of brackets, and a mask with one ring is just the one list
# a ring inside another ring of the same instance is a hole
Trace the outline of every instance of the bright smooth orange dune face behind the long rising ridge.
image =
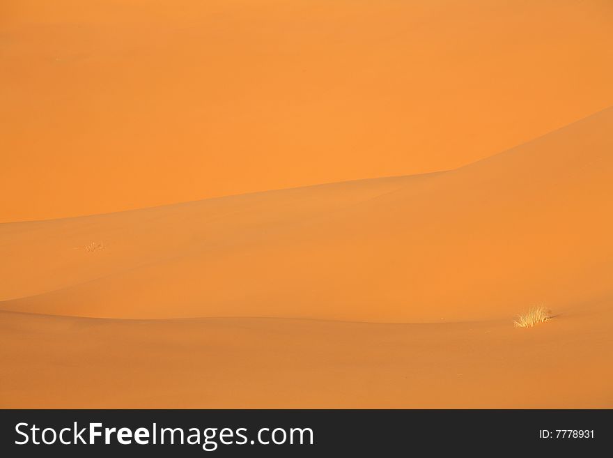
[(453, 169), (613, 104), (610, 0), (5, 0), (0, 222)]

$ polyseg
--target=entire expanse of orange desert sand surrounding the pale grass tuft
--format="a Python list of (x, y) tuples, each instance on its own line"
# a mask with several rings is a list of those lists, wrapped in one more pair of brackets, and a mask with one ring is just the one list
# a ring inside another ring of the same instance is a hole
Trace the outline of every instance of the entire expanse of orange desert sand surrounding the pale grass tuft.
[(0, 407), (611, 408), (613, 9), (502, 3), (11, 3)]

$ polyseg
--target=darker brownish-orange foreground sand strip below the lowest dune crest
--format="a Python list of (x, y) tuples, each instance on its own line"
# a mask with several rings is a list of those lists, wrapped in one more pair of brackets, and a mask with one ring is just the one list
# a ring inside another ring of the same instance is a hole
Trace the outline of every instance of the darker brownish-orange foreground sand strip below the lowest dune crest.
[(0, 313), (0, 406), (613, 407), (611, 300), (538, 328)]

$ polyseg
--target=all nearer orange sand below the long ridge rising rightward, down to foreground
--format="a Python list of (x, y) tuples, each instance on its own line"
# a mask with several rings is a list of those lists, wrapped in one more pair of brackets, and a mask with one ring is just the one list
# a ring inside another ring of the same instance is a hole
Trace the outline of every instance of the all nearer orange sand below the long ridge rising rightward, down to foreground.
[(1, 406), (610, 407), (611, 132), (607, 109), (440, 174), (2, 224)]

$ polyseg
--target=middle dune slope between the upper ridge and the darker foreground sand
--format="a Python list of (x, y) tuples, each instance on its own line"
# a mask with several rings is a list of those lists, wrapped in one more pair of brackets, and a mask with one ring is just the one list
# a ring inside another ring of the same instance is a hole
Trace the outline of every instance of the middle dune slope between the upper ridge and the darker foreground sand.
[(0, 308), (398, 323), (566, 312), (612, 295), (611, 132), (607, 109), (440, 174), (2, 224)]

